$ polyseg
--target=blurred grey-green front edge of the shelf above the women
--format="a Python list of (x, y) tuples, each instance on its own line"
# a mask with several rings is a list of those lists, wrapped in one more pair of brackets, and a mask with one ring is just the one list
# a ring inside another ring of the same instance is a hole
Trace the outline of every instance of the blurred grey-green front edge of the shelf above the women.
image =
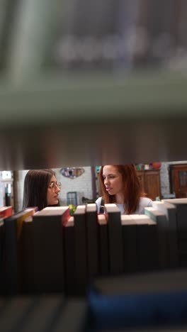
[(35, 116), (47, 123), (54, 115), (57, 122), (187, 118), (186, 87), (187, 75), (164, 70), (49, 72), (17, 84), (1, 79), (0, 126), (9, 126), (8, 116), (12, 123), (35, 123)]

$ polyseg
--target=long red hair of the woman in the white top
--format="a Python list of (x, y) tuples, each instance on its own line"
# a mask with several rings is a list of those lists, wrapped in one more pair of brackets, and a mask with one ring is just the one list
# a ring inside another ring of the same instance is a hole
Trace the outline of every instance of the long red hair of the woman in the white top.
[[(98, 179), (104, 197), (105, 203), (115, 203), (115, 195), (110, 195), (106, 192), (106, 187), (103, 180), (103, 166), (101, 166)], [(124, 204), (125, 213), (132, 214), (136, 209), (140, 201), (140, 197), (144, 197), (145, 193), (142, 192), (140, 180), (137, 176), (137, 170), (135, 165), (113, 165), (115, 169), (122, 175), (122, 181), (124, 184)]]

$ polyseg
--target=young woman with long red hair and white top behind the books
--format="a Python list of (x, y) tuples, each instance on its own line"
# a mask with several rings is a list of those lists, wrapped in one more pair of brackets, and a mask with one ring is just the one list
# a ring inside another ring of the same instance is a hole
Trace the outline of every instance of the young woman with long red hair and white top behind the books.
[(104, 203), (115, 203), (121, 214), (144, 214), (152, 200), (142, 192), (135, 165), (104, 165), (98, 175), (102, 197), (96, 200), (98, 213)]

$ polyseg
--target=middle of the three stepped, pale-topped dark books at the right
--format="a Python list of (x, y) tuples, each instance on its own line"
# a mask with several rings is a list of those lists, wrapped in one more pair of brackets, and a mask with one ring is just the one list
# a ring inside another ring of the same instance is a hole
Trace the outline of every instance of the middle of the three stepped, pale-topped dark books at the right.
[(169, 265), (179, 267), (178, 229), (176, 224), (176, 206), (165, 201), (153, 201), (152, 207), (166, 215), (168, 221), (167, 240), (169, 245)]

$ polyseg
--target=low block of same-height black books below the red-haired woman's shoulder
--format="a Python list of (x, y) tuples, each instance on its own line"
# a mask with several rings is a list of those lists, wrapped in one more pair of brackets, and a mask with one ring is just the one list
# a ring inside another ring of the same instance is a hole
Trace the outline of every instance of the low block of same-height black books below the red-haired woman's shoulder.
[(159, 268), (157, 223), (146, 215), (122, 215), (124, 272)]

